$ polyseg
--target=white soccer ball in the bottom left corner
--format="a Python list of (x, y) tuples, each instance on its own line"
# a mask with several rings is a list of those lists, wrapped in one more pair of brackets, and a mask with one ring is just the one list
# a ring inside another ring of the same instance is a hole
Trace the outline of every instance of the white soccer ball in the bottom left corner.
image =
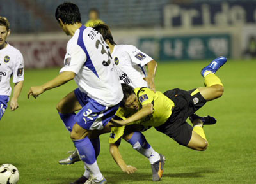
[(19, 178), (19, 171), (12, 164), (3, 164), (0, 166), (0, 184), (16, 184)]

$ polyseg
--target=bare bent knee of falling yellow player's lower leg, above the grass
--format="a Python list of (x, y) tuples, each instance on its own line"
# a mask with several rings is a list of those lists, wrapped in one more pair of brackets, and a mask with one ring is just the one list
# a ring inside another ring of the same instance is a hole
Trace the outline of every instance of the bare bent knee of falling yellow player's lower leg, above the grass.
[(206, 150), (207, 146), (208, 142), (199, 136), (195, 131), (192, 131), (192, 136), (187, 147), (193, 150), (204, 151)]

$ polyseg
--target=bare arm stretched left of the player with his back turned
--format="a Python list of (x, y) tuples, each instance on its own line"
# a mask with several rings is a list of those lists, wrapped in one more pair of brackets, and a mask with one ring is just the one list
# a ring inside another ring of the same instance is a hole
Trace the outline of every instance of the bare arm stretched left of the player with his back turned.
[(72, 71), (63, 71), (63, 73), (59, 74), (58, 76), (56, 76), (56, 78), (54, 78), (51, 81), (48, 81), (44, 85), (30, 87), (28, 92), (28, 99), (30, 96), (33, 96), (36, 98), (47, 90), (59, 87), (60, 85), (63, 85), (64, 83), (67, 83), (68, 81), (75, 78), (75, 76), (76, 76), (76, 73)]

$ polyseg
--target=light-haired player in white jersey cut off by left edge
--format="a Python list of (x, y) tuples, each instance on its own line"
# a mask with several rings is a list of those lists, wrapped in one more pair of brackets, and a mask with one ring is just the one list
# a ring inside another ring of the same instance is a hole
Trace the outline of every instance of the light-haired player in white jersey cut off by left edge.
[(0, 120), (7, 108), (12, 94), (10, 78), (13, 75), (13, 97), (10, 102), (12, 111), (19, 107), (18, 98), (24, 81), (24, 62), (19, 50), (6, 42), (10, 35), (10, 23), (5, 17), (0, 17)]

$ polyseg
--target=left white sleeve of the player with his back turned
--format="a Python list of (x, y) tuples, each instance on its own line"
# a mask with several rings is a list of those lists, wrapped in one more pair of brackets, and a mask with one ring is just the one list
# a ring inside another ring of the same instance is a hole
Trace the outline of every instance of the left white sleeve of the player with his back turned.
[(78, 73), (86, 62), (86, 53), (79, 45), (74, 45), (67, 50), (64, 59), (64, 67), (61, 68), (60, 73), (63, 71), (72, 71)]

